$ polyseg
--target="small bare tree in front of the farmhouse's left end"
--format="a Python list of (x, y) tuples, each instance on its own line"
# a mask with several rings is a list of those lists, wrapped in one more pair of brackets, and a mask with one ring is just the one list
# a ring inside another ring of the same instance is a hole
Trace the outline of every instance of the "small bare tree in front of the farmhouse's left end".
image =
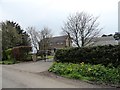
[(49, 40), (52, 37), (51, 29), (49, 29), (48, 27), (44, 27), (40, 31), (40, 36), (41, 36), (40, 49), (41, 50), (49, 49)]

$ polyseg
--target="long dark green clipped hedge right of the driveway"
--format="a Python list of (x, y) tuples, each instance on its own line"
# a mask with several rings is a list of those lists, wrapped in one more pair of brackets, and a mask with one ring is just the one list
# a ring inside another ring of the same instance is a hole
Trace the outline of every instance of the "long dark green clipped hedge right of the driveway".
[(120, 65), (120, 46), (59, 49), (55, 54), (55, 61), (118, 66)]

